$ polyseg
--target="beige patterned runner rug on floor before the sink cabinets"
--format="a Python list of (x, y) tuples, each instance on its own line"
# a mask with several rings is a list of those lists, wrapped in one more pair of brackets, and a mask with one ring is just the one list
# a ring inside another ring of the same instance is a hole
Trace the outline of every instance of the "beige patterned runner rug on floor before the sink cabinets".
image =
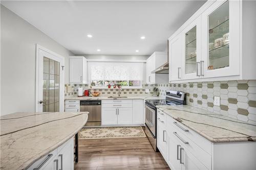
[(79, 139), (146, 137), (142, 127), (83, 128)]

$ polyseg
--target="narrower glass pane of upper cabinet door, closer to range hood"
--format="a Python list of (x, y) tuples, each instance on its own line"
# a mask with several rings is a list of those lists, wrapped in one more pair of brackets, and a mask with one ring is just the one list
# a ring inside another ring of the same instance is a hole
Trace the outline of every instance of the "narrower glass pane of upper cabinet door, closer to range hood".
[(197, 26), (185, 34), (185, 74), (197, 71)]

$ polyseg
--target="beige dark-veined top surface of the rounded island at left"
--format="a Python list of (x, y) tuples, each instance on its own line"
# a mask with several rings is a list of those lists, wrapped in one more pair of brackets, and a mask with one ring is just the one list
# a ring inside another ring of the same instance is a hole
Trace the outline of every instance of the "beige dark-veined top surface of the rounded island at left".
[(18, 112), (1, 116), (1, 169), (26, 169), (72, 138), (88, 112)]

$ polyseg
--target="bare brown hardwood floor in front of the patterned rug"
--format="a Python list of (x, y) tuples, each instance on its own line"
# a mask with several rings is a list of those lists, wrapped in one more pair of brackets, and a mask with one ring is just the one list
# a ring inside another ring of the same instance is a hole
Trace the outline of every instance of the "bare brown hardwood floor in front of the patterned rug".
[(76, 170), (90, 169), (169, 169), (146, 137), (79, 139)]

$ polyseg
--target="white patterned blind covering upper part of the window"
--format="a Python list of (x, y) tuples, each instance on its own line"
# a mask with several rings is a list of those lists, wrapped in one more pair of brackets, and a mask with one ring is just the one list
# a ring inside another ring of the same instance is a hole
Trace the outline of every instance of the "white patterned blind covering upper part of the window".
[(88, 62), (91, 80), (143, 80), (142, 62)]

